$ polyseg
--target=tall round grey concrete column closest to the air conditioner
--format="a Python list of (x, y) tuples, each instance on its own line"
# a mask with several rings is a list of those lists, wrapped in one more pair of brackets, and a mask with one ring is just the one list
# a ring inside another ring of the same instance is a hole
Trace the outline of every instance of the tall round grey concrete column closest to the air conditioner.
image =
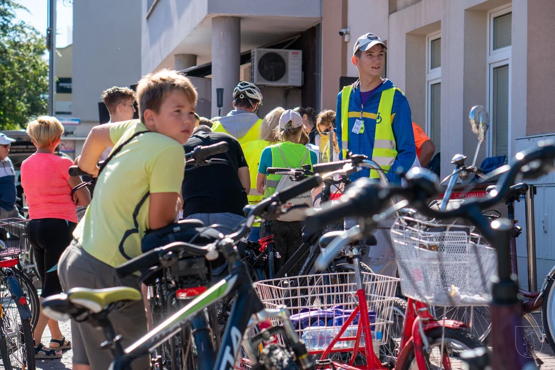
[(216, 89), (224, 89), (221, 115), (233, 109), (233, 89), (239, 83), (241, 19), (212, 18), (212, 116), (218, 115)]

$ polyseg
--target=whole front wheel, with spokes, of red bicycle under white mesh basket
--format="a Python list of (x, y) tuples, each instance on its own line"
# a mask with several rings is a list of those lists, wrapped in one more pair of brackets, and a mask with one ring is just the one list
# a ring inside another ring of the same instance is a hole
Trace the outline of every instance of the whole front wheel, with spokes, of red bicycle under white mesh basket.
[[(426, 356), (427, 368), (441, 369), (443, 368), (442, 356), (449, 357), (452, 369), (464, 368), (465, 363), (460, 357), (453, 356), (456, 351), (453, 347), (467, 349), (486, 348), (486, 346), (478, 340), (471, 333), (451, 328), (437, 328), (426, 332), (426, 337), (430, 342), (431, 352)], [(408, 353), (405, 363), (403, 363), (402, 370), (417, 369), (415, 352)]]

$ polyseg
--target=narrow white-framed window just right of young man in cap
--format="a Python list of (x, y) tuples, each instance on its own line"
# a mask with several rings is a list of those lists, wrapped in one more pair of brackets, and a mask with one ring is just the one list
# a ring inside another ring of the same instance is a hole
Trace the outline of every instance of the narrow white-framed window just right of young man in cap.
[(426, 48), (426, 133), (441, 148), (441, 33), (427, 36)]

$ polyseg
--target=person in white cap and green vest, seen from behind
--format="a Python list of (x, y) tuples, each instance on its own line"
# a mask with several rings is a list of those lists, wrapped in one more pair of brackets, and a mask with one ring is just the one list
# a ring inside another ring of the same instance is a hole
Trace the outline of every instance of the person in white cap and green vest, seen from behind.
[[(256, 187), (264, 197), (269, 197), (276, 190), (285, 189), (291, 185), (289, 176), (267, 174), (269, 167), (298, 168), (305, 164), (316, 164), (317, 155), (314, 151), (300, 144), (301, 135), (306, 135), (305, 127), (302, 124), (302, 117), (294, 110), (286, 110), (280, 116), (279, 134), (281, 143), (270, 145), (262, 151), (258, 176), (256, 177)], [(312, 206), (312, 195), (310, 192), (290, 200), (283, 209), (293, 205), (306, 204)], [(279, 252), (281, 258), (275, 259), (275, 271), (279, 271), (281, 266), (295, 253), (302, 244), (302, 227), (304, 226), (304, 210), (294, 210), (280, 216), (278, 220), (270, 222), (272, 234), (274, 234), (275, 250)], [(260, 225), (260, 236), (265, 236), (265, 225)], [(302, 266), (300, 260), (292, 268), (291, 273), (299, 271)]]

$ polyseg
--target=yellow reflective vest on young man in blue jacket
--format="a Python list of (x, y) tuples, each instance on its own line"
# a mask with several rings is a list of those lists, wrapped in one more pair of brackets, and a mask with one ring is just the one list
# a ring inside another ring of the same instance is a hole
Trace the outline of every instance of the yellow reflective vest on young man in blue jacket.
[[(370, 118), (376, 120), (376, 134), (374, 136), (374, 149), (372, 149), (372, 160), (374, 160), (384, 171), (391, 169), (393, 161), (397, 158), (397, 149), (395, 136), (393, 136), (393, 126), (391, 118), (391, 108), (393, 107), (393, 96), (395, 87), (382, 91), (380, 105), (377, 115), (375, 113), (367, 113), (361, 111), (349, 111), (349, 101), (351, 100), (352, 85), (343, 88), (341, 93), (341, 146), (343, 150), (343, 158), (349, 150), (349, 118)], [(399, 90), (401, 91), (401, 90)], [(359, 131), (364, 133), (364, 124)], [(353, 135), (356, 135), (353, 133)], [(363, 153), (355, 153), (363, 154)], [(370, 170), (370, 177), (377, 179), (376, 170)]]

